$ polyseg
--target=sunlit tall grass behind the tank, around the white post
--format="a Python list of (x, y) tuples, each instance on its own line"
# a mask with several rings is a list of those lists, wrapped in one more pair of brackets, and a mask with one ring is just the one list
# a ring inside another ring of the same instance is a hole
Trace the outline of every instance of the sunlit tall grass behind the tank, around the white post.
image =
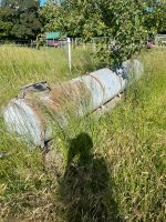
[(17, 94), (22, 84), (41, 80), (56, 82), (71, 79), (94, 68), (90, 53), (74, 50), (73, 72), (69, 71), (66, 49), (32, 50), (4, 46), (0, 48), (0, 105)]

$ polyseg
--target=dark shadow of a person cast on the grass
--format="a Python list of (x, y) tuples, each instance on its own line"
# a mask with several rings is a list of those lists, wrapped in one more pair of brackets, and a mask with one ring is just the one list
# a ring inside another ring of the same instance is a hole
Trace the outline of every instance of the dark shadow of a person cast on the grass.
[(93, 155), (90, 135), (81, 133), (71, 140), (68, 165), (60, 188), (66, 221), (122, 221), (112, 185), (104, 158)]

